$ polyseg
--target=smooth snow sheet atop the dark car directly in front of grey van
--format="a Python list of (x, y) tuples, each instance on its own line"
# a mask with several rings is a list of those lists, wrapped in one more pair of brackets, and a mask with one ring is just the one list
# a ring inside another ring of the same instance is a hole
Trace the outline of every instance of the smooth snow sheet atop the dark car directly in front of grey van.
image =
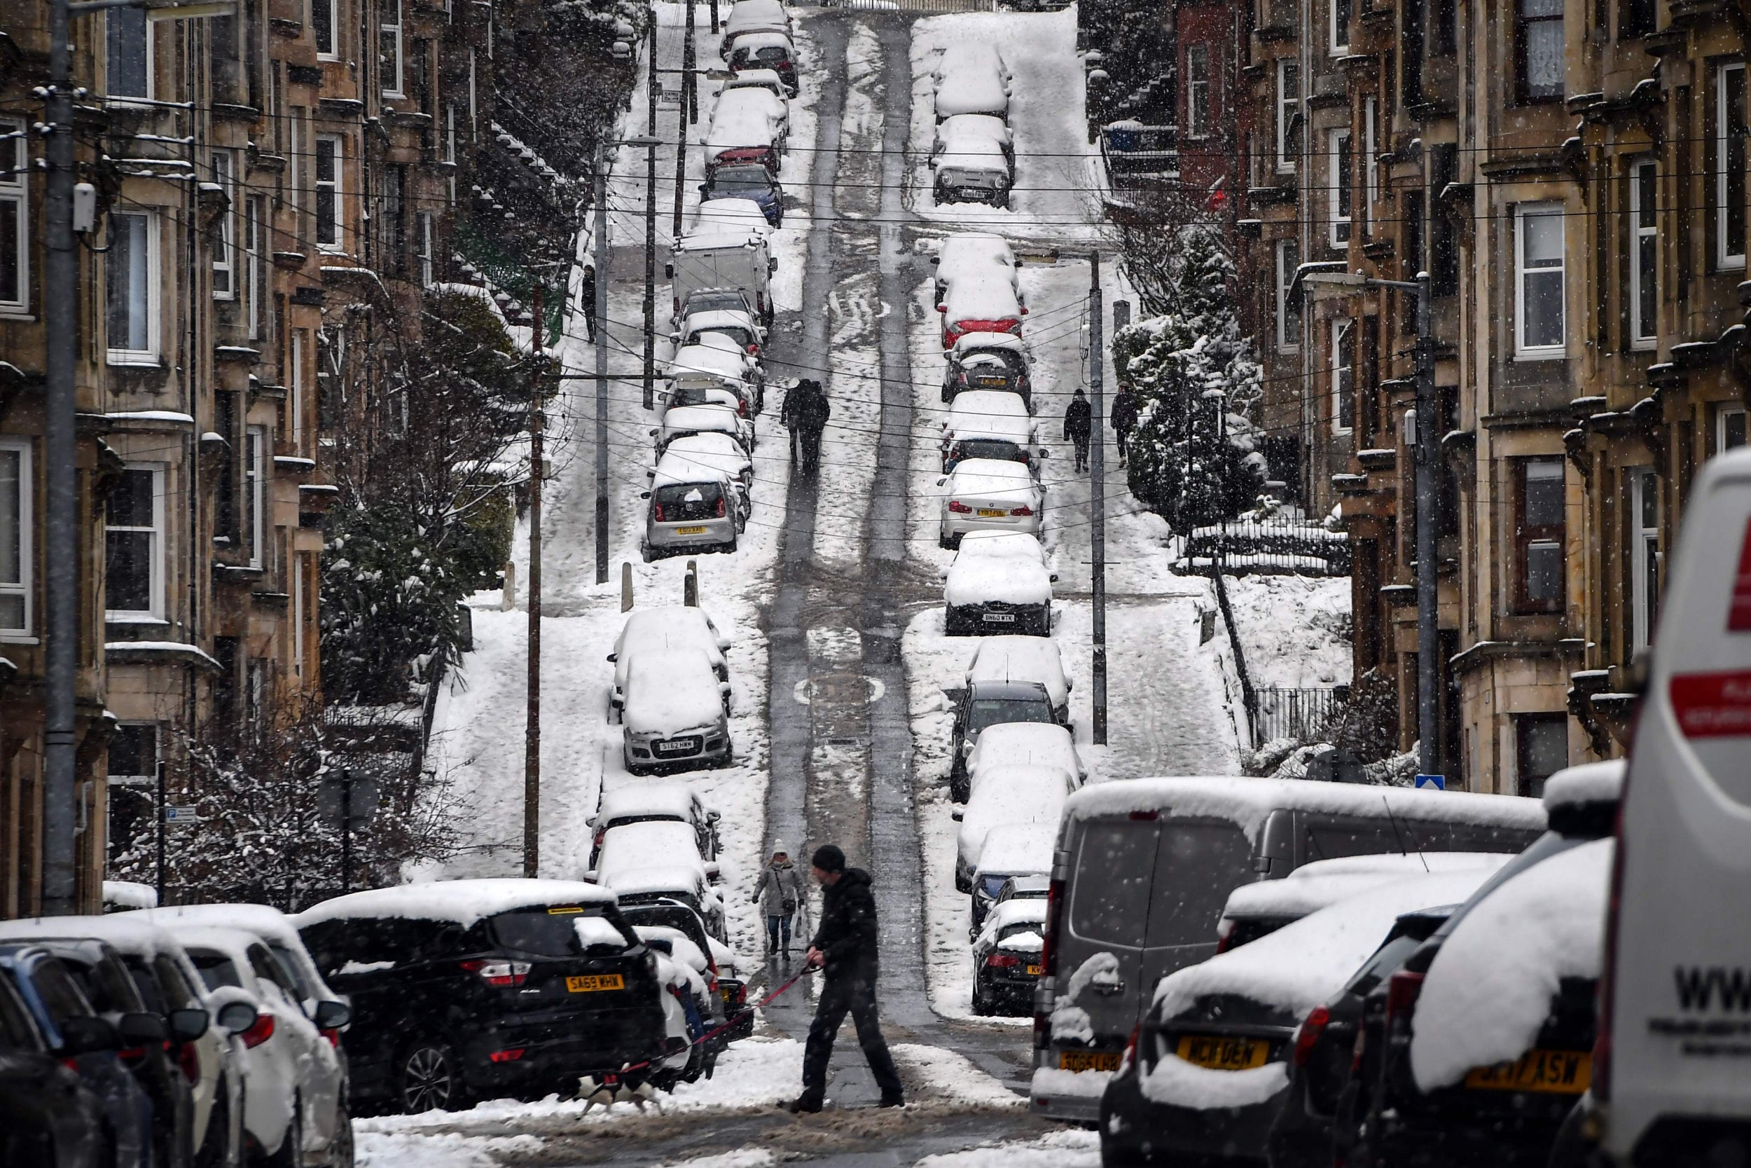
[(1168, 974), (1156, 984), (1157, 1017), (1175, 1017), (1213, 993), (1241, 995), (1299, 1017), (1350, 981), (1401, 914), (1459, 904), (1488, 876), (1474, 869), (1376, 886), (1203, 965)]

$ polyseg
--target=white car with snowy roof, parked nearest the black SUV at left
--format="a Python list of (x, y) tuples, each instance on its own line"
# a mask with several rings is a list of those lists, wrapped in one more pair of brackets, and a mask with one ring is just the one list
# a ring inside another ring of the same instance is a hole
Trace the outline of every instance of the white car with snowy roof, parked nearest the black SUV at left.
[[(348, 1068), (336, 1044), (305, 1014), (296, 979), (252, 932), (173, 918), (163, 925), (182, 942), (210, 1002), (256, 1009), (256, 1023), (242, 1033), (243, 1129), (250, 1145), (289, 1163), (324, 1164), (336, 1154), (350, 1159)], [(347, 1024), (350, 1010), (340, 1009), (343, 1014), (324, 1021)], [(301, 1150), (287, 1156), (289, 1149)]]

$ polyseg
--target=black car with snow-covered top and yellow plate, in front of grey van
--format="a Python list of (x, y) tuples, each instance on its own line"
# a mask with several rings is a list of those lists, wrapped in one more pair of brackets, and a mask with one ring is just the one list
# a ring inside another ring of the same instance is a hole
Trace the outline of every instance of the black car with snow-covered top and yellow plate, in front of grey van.
[[(1301, 1019), (1343, 989), (1401, 914), (1457, 904), (1485, 879), (1483, 869), (1408, 876), (1163, 977), (1101, 1096), (1101, 1161), (1262, 1163)], [(1054, 1028), (1087, 1024), (1073, 1012), (1066, 1002)]]

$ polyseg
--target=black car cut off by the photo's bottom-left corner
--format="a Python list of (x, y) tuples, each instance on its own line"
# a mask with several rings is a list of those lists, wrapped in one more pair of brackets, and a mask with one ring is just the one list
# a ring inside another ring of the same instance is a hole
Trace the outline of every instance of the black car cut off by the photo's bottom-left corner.
[(0, 977), (0, 1164), (109, 1168), (103, 1103)]

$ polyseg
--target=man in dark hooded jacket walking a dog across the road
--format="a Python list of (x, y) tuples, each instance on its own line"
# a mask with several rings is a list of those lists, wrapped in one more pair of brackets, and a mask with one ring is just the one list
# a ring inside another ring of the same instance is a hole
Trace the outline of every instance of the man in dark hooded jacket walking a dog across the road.
[(802, 1094), (790, 1103), (790, 1110), (821, 1110), (826, 1061), (846, 1012), (856, 1023), (858, 1045), (881, 1087), (881, 1105), (904, 1107), (900, 1073), (876, 1019), (876, 897), (870, 893), (870, 874), (847, 869), (846, 853), (833, 844), (816, 848), (811, 865), (814, 879), (821, 881), (821, 926), (809, 942), (807, 961), (826, 972), (826, 984), (802, 1052)]

